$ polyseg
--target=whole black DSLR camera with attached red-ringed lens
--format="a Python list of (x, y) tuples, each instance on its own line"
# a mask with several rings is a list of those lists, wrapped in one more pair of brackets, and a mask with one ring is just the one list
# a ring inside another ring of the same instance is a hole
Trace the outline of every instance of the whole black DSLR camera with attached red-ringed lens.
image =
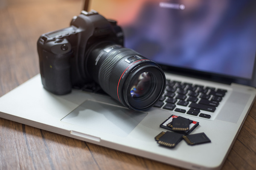
[(165, 75), (154, 61), (124, 48), (123, 35), (116, 21), (93, 10), (73, 17), (70, 27), (42, 34), (37, 47), (44, 88), (63, 95), (94, 82), (128, 108), (154, 106)]

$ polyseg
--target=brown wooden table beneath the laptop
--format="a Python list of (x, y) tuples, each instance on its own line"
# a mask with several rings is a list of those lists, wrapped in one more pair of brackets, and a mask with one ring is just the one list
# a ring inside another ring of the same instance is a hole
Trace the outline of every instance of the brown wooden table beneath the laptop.
[[(83, 5), (81, 0), (0, 1), (0, 96), (39, 73), (38, 37), (69, 26)], [(5, 169), (180, 168), (0, 118), (0, 170)], [(223, 169), (256, 169), (256, 104)]]

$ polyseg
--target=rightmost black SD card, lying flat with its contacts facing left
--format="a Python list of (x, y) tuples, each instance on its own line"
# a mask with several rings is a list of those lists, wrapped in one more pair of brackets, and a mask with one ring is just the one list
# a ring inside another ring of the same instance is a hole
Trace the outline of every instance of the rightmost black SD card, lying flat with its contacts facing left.
[(204, 132), (196, 133), (196, 134), (192, 134), (192, 135), (186, 135), (186, 136), (183, 136), (183, 139), (189, 145), (203, 144), (203, 143), (211, 142), (211, 140), (206, 136), (206, 134)]

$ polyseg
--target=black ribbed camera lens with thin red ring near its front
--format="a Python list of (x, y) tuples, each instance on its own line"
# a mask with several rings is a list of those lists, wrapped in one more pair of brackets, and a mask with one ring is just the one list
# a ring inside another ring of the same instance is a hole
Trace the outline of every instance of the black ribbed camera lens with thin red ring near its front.
[(129, 48), (101, 42), (88, 50), (84, 61), (86, 74), (128, 108), (145, 111), (163, 94), (161, 68)]

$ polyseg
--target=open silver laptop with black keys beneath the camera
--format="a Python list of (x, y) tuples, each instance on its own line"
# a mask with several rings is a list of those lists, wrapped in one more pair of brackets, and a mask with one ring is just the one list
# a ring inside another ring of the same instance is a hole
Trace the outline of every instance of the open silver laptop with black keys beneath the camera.
[[(104, 2), (89, 6), (165, 71), (159, 102), (133, 111), (100, 90), (55, 95), (38, 74), (0, 97), (0, 117), (178, 167), (221, 169), (256, 96), (255, 2)], [(174, 131), (177, 117), (190, 129)], [(170, 133), (181, 134), (175, 147), (163, 138)]]

